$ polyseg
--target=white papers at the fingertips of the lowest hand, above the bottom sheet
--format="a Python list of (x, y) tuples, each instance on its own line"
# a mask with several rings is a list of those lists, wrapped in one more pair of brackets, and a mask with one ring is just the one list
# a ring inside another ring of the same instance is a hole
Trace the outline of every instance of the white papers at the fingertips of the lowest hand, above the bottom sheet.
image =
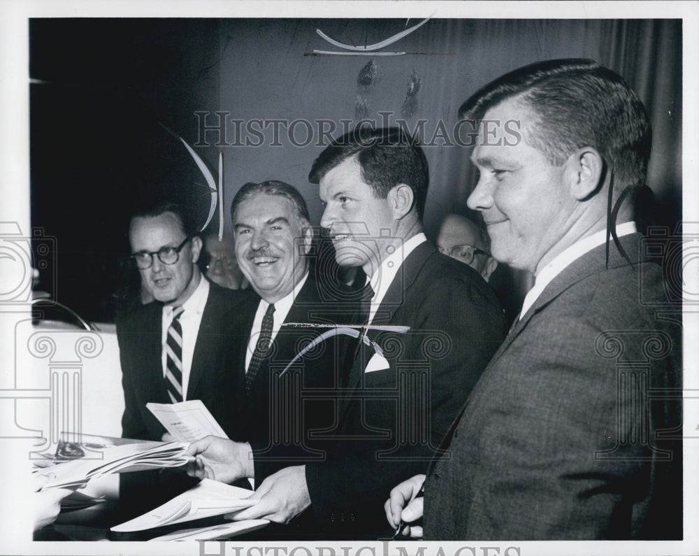
[(217, 480), (203, 479), (187, 492), (182, 492), (150, 512), (115, 525), (112, 531), (142, 531), (242, 510), (255, 504), (254, 500), (247, 500), (251, 494), (252, 490), (233, 487)]

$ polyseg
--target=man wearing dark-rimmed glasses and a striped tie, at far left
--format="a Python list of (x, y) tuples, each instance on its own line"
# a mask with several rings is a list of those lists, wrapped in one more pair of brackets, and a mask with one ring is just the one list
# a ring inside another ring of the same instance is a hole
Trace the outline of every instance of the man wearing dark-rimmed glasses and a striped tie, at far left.
[[(229, 311), (247, 297), (203, 278), (202, 241), (181, 208), (166, 203), (131, 217), (131, 258), (155, 301), (117, 322), (124, 387), (122, 436), (159, 441), (164, 427), (145, 404), (200, 399), (229, 427), (229, 377), (217, 365)], [(192, 485), (184, 473), (122, 476), (126, 513), (147, 511)]]

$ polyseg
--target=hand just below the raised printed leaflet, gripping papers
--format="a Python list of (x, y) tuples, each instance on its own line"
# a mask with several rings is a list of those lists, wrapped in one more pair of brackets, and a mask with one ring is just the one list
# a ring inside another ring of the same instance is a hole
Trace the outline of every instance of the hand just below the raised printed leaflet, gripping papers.
[(206, 436), (192, 442), (185, 455), (194, 456), (194, 461), (187, 464), (187, 475), (192, 477), (233, 483), (255, 476), (252, 448), (247, 442)]

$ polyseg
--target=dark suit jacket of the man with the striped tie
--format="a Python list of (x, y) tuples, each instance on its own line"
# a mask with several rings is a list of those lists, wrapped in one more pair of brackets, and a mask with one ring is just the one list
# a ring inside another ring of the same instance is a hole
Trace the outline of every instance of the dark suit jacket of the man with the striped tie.
[[(201, 279), (206, 280), (203, 276)], [(230, 313), (250, 297), (250, 293), (226, 290), (214, 283), (209, 283), (209, 288), (194, 345), (187, 399), (201, 399), (228, 432), (231, 378), (216, 363), (219, 352), (228, 343), (224, 329), (231, 318)], [(145, 406), (150, 401), (171, 403), (163, 378), (161, 334), (162, 304), (157, 301), (141, 306), (117, 322), (125, 401), (122, 416), (124, 438), (159, 441), (165, 432)], [(193, 484), (194, 481), (184, 473), (124, 473), (120, 480), (120, 501), (129, 514), (147, 511)]]

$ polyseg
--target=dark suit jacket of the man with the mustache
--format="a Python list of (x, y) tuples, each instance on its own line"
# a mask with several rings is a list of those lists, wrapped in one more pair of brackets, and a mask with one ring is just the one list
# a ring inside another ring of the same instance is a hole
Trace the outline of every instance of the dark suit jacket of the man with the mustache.
[[(354, 318), (354, 301), (339, 304), (325, 294), (309, 275), (284, 322), (345, 324)], [(324, 459), (325, 440), (316, 433), (331, 429), (336, 420), (336, 392), (346, 380), (348, 340), (329, 338), (284, 371), (305, 345), (328, 329), (282, 326), (246, 395), (245, 356), (259, 301), (255, 295), (236, 310), (222, 364), (233, 377), (231, 438), (250, 442), (257, 485), (282, 467)]]

